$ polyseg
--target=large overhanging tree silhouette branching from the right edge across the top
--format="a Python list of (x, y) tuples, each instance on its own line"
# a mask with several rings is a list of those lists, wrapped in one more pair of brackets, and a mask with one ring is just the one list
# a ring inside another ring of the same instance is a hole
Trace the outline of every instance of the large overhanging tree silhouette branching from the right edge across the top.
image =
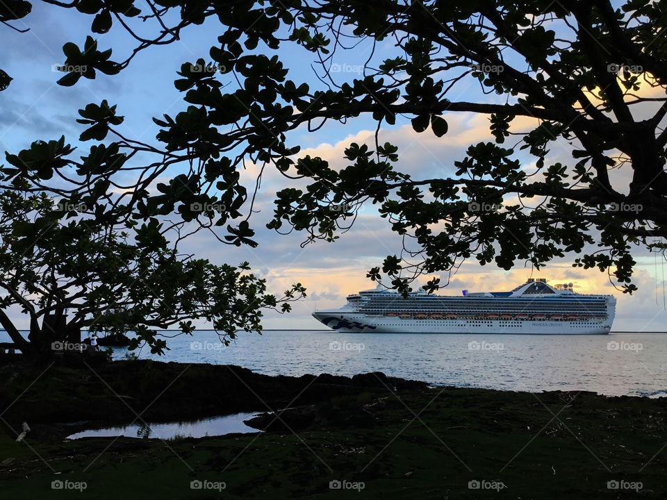
[[(122, 137), (104, 106), (98, 107), (104, 113), (83, 115), (99, 134), (82, 139), (99, 140), (111, 131), (118, 138), (113, 145), (128, 157), (138, 151), (156, 156), (146, 169), (150, 174), (188, 164), (188, 173), (159, 197), (135, 200), (142, 217), (178, 210), (185, 220), (198, 218), (188, 208), (190, 194), (218, 192), (227, 210), (215, 222), (208, 217), (208, 224), (227, 224), (240, 217), (242, 206), (236, 169), (252, 160), (308, 181), (306, 190), (279, 192), (270, 223), (276, 230), (306, 231), (307, 242), (334, 240), (354, 222), (361, 203), (376, 204), (393, 231), (412, 238), (418, 250), (388, 256), (369, 276), (387, 276), (404, 292), (415, 276), (455, 269), (471, 256), (509, 269), (517, 260), (540, 267), (568, 252), (580, 255), (575, 265), (610, 272), (624, 292), (632, 292), (632, 247), (666, 248), (664, 3), (158, 0), (140, 12), (131, 0), (47, 1), (95, 15), (93, 32), (119, 22), (138, 40), (120, 63), (110, 62), (110, 52), (99, 51), (92, 38), (83, 49), (65, 44), (65, 68), (87, 70), (69, 71), (61, 85), (94, 78), (95, 69), (121, 71), (139, 51), (173, 42), (183, 28), (209, 17), (222, 26), (209, 58), (181, 65), (174, 85), (189, 106), (156, 119), (163, 127), (157, 144)], [(179, 20), (167, 25), (172, 12)], [(158, 31), (137, 35), (127, 16), (156, 21)], [(390, 54), (376, 46), (388, 40)], [(331, 72), (336, 57), (363, 43), (373, 49), (363, 77), (341, 81)], [(297, 46), (313, 53), (319, 90), (288, 78), (280, 51)], [(223, 82), (238, 82), (238, 88), (224, 92)], [(452, 98), (470, 82), (479, 85), (478, 99)], [(449, 178), (412, 178), (401, 172), (397, 147), (381, 141), (382, 126), (401, 120), (441, 137), (447, 115), (461, 112), (488, 116), (495, 141), (471, 144)], [(350, 144), (344, 169), (298, 157), (297, 129), (314, 132), (331, 120), (362, 115), (377, 123), (376, 144)], [(527, 130), (516, 127), (519, 120), (530, 124)], [(550, 163), (557, 140), (570, 144), (567, 163)], [(526, 157), (536, 165), (531, 174), (522, 168)], [(123, 168), (108, 167), (101, 176)], [(627, 172), (625, 185), (611, 181), (616, 169)], [(152, 181), (148, 173), (142, 179), (138, 192)], [(180, 185), (188, 185), (187, 196)], [(331, 203), (345, 209), (331, 210)], [(247, 218), (227, 231), (222, 241), (252, 244)], [(590, 245), (599, 248), (591, 251)], [(438, 284), (434, 278), (425, 288)]]

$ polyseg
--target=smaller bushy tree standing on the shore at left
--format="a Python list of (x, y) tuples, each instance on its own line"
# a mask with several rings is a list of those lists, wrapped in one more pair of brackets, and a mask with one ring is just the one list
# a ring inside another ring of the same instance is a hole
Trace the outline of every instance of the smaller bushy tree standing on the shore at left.
[[(179, 253), (156, 217), (139, 223), (90, 194), (53, 203), (24, 167), (68, 148), (64, 139), (35, 142), (31, 154), (8, 156), (19, 168), (3, 169), (14, 189), (0, 192), (0, 325), (27, 356), (52, 356), (53, 342), (62, 346), (85, 327), (133, 331), (131, 349), (147, 342), (163, 353), (165, 340), (151, 328), (190, 334), (196, 319), (229, 343), (238, 330), (261, 331), (262, 310), (287, 311), (304, 292), (295, 285), (278, 299), (247, 263), (218, 266)], [(6, 314), (14, 304), (30, 318), (27, 336)]]

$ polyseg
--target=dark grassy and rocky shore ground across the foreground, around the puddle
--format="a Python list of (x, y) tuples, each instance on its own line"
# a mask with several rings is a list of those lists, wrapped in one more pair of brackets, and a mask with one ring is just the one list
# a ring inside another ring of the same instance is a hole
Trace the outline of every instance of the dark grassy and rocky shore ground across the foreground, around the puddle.
[[(667, 496), (667, 399), (103, 356), (17, 360), (0, 380), (3, 499)], [(265, 431), (63, 440), (77, 425), (242, 411), (264, 412)]]

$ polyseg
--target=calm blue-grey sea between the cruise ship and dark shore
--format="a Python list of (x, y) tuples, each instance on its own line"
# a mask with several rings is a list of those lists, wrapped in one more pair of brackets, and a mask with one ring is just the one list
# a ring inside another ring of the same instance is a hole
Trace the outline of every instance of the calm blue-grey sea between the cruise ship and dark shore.
[[(164, 336), (176, 332), (161, 332)], [(85, 337), (85, 333), (83, 334)], [(1, 341), (6, 333), (0, 332)], [(224, 347), (213, 331), (167, 339), (140, 358), (240, 365), (267, 375), (384, 372), (433, 385), (667, 396), (667, 334), (470, 335), (265, 331)], [(115, 359), (127, 349), (116, 348)]]

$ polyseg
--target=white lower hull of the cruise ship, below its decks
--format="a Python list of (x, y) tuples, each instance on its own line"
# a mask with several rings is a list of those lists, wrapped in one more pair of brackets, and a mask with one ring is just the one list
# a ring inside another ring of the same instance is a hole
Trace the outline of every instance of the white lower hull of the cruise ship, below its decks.
[[(400, 319), (341, 310), (318, 311), (313, 317), (329, 328), (347, 333), (506, 333), (527, 335), (605, 335), (611, 321), (484, 321), (461, 319)], [(613, 318), (612, 318), (613, 320)]]

